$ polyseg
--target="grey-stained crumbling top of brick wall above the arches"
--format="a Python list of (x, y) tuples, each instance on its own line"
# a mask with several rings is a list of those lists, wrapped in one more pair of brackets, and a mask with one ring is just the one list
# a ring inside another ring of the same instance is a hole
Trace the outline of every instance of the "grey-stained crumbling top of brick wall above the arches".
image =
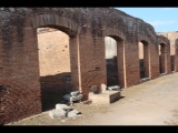
[(65, 16), (81, 27), (100, 30), (112, 28), (120, 30), (126, 35), (144, 34), (151, 41), (156, 40), (156, 32), (151, 24), (113, 8), (0, 8), (0, 12), (21, 16), (55, 13)]

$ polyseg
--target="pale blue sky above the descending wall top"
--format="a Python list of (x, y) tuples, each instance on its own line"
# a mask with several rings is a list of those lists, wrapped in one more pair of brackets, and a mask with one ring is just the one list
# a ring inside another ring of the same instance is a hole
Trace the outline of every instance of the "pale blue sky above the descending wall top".
[(117, 8), (150, 23), (156, 32), (178, 31), (178, 8)]

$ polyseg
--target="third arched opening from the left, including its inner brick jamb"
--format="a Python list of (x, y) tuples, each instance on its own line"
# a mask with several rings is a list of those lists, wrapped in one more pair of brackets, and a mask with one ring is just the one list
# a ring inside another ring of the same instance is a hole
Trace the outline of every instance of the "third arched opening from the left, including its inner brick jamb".
[(138, 43), (139, 49), (139, 70), (140, 70), (140, 80), (150, 79), (150, 52), (149, 44), (147, 41), (140, 41)]

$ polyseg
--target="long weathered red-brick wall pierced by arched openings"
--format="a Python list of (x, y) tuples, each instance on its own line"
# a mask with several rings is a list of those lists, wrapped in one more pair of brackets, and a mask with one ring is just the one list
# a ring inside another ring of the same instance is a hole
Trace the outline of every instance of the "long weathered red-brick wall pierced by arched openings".
[[(56, 28), (70, 37), (72, 90), (80, 90), (83, 100), (88, 99), (92, 85), (97, 85), (100, 93), (100, 84), (106, 84), (105, 37), (118, 43), (118, 82), (122, 88), (140, 83), (139, 41), (149, 43), (152, 79), (159, 76), (158, 44), (166, 44), (164, 58), (170, 73), (168, 39), (156, 35), (154, 27), (144, 20), (119, 10), (0, 8), (0, 124), (41, 112), (37, 28)], [(177, 62), (176, 59), (176, 68)], [(12, 114), (14, 110), (22, 113)]]

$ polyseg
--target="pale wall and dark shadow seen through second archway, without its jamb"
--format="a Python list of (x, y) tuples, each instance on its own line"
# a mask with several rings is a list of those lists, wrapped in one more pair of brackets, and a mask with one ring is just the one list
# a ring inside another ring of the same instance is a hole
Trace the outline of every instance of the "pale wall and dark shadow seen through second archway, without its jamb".
[(105, 38), (107, 85), (118, 85), (117, 42), (110, 37)]

